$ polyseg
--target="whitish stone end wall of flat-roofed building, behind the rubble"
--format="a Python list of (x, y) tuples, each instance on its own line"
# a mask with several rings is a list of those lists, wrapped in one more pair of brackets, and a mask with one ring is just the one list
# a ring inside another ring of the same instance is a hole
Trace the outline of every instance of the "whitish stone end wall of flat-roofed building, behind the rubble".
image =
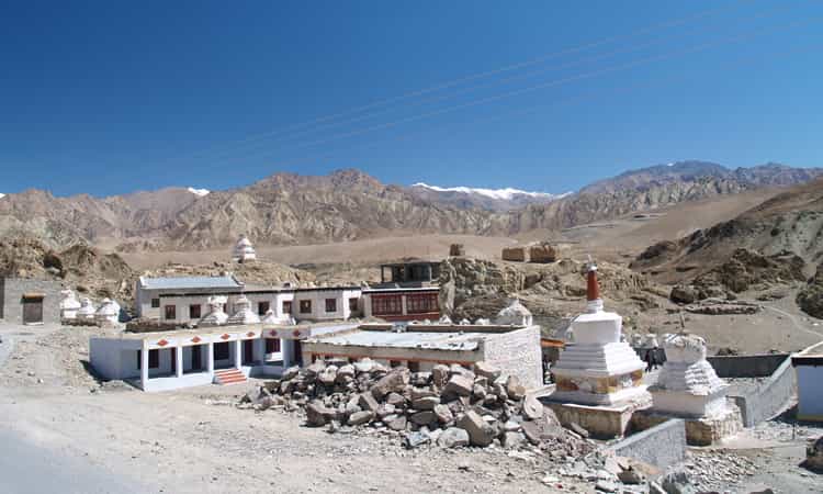
[(516, 375), (527, 390), (543, 385), (543, 356), (540, 349), (540, 326), (529, 326), (483, 341), (483, 360), (504, 374)]

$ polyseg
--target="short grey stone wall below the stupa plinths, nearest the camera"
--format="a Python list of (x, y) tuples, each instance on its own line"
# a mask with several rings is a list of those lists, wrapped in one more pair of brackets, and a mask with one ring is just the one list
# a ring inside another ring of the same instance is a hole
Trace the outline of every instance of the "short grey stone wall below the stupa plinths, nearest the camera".
[(686, 459), (686, 424), (673, 418), (609, 447), (617, 456), (666, 469)]

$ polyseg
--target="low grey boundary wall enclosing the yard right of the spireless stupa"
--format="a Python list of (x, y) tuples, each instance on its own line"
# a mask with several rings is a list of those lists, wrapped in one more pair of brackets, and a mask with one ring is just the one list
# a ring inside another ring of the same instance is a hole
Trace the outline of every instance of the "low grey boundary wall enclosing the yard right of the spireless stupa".
[(710, 357), (721, 378), (766, 378), (757, 386), (729, 391), (740, 407), (745, 427), (753, 427), (783, 411), (797, 393), (797, 374), (789, 353)]

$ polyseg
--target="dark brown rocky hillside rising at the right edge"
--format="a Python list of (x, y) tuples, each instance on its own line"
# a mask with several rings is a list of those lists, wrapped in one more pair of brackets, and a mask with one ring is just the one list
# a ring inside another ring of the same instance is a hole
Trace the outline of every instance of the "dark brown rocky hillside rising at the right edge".
[(820, 317), (822, 266), (823, 179), (819, 179), (792, 187), (732, 221), (657, 243), (631, 268), (659, 281), (679, 282), (672, 296), (684, 303), (800, 285), (798, 304)]

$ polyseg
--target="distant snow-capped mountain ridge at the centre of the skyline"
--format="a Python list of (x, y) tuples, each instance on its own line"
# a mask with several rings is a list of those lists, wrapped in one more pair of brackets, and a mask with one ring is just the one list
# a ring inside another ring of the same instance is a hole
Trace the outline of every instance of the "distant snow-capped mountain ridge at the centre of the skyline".
[(512, 188), (438, 187), (422, 182), (413, 184), (409, 187), (409, 191), (426, 202), (447, 204), (459, 209), (481, 209), (496, 212), (511, 211), (528, 204), (545, 204), (568, 195), (527, 192)]

